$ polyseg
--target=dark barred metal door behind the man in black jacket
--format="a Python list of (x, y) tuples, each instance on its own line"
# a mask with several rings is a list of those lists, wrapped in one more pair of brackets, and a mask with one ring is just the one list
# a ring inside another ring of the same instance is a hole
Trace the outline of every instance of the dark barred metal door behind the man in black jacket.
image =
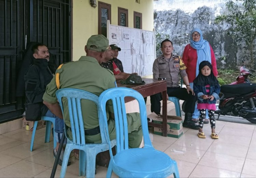
[(26, 44), (47, 45), (57, 65), (71, 60), (70, 13), (71, 0), (0, 0), (0, 123), (24, 112), (15, 91)]

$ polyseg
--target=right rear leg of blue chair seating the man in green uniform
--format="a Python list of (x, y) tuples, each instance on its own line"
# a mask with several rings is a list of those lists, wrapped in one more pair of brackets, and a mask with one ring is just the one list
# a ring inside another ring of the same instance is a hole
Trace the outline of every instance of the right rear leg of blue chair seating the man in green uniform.
[(88, 150), (86, 152), (86, 177), (95, 177), (96, 152)]

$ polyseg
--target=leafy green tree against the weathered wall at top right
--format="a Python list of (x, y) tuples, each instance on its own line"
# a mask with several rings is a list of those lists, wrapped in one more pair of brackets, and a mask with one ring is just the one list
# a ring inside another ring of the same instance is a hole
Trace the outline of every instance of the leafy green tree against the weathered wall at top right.
[(231, 28), (226, 32), (236, 39), (238, 46), (245, 43), (246, 49), (250, 52), (251, 67), (253, 68), (256, 38), (256, 0), (229, 0), (226, 3), (226, 10), (224, 14), (215, 18), (215, 22), (227, 22), (231, 25)]

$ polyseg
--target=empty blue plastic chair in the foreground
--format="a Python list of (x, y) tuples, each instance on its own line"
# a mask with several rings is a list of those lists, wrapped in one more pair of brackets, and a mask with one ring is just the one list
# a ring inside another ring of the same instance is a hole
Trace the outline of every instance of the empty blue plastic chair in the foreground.
[[(139, 103), (143, 148), (128, 147), (128, 127), (125, 109), (125, 97), (133, 97)], [(143, 96), (130, 88), (118, 87), (104, 91), (99, 97), (99, 103), (104, 116), (104, 129), (109, 148), (111, 148), (108, 123), (106, 119), (106, 102), (112, 100), (116, 127), (116, 155), (110, 150), (110, 163), (106, 177), (111, 177), (112, 171), (119, 177), (180, 177), (176, 161), (166, 153), (156, 150), (150, 141), (146, 106)]]

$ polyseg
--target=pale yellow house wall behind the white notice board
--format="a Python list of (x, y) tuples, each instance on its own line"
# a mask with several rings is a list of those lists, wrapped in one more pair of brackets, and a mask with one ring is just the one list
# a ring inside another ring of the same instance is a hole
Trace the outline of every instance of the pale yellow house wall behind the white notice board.
[[(118, 7), (128, 9), (128, 27), (133, 28), (133, 11), (142, 13), (142, 29), (153, 31), (154, 28), (154, 7), (153, 0), (140, 0), (140, 4), (135, 0), (100, 0), (111, 4), (111, 24), (118, 25)], [(72, 37), (73, 56), (72, 60), (79, 60), (85, 55), (84, 46), (87, 39), (94, 34), (98, 34), (98, 0), (97, 7), (91, 7), (89, 0), (73, 0), (72, 7)]]

